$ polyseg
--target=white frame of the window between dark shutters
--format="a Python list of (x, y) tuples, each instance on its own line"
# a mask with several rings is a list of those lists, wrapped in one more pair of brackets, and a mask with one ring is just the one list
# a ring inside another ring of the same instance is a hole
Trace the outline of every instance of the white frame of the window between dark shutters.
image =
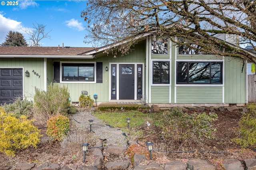
[[(94, 65), (94, 70), (93, 70), (93, 75), (94, 75), (94, 80), (93, 81), (86, 81), (86, 80), (63, 80), (63, 65), (65, 64), (71, 64), (71, 65), (79, 65), (79, 64), (93, 64)], [(67, 62), (67, 61), (62, 61), (60, 62), (60, 83), (96, 83), (96, 80), (97, 80), (97, 72), (96, 72), (96, 67), (97, 67), (97, 64), (96, 62)]]

